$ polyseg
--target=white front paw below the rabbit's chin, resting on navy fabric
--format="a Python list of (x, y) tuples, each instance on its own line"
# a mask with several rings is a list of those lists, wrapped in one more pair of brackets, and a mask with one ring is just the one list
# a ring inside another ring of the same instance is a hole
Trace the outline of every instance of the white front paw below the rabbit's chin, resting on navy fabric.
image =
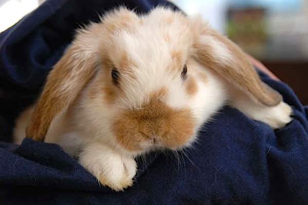
[(80, 163), (99, 182), (114, 191), (132, 186), (137, 163), (130, 156), (123, 156), (104, 146), (90, 146), (80, 154)]

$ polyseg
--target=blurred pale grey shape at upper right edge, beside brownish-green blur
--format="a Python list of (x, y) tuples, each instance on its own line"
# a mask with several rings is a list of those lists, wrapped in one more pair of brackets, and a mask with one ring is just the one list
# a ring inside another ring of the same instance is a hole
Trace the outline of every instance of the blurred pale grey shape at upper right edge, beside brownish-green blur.
[(295, 2), (298, 5), (290, 7), (290, 11), (285, 9), (268, 16), (271, 39), (265, 60), (308, 60), (308, 2)]

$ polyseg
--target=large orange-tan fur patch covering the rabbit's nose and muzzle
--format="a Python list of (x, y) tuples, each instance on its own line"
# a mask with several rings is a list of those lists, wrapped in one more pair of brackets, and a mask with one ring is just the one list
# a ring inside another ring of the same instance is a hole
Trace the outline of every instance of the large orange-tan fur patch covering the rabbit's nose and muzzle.
[(172, 109), (162, 99), (166, 90), (150, 95), (141, 108), (124, 110), (113, 124), (119, 144), (129, 151), (142, 151), (151, 146), (152, 137), (167, 148), (182, 147), (194, 134), (195, 122), (188, 109)]

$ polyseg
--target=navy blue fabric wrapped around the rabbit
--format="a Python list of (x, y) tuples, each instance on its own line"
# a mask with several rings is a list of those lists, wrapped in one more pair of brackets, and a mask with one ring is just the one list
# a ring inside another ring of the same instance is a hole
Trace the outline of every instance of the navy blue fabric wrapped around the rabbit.
[(204, 125), (196, 149), (140, 160), (125, 192), (100, 186), (57, 145), (8, 143), (14, 118), (37, 97), (73, 30), (119, 4), (146, 12), (167, 3), (50, 0), (0, 34), (0, 204), (308, 204), (307, 109), (262, 73), (293, 107), (290, 124), (273, 131), (225, 107)]

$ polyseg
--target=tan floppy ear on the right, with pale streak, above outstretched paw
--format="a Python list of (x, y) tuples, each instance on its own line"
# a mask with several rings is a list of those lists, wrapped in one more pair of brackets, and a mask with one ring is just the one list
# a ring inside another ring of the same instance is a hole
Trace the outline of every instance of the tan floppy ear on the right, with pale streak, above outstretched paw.
[(199, 21), (192, 22), (195, 23), (194, 53), (197, 60), (260, 104), (278, 105), (281, 95), (261, 81), (247, 55), (229, 39)]

